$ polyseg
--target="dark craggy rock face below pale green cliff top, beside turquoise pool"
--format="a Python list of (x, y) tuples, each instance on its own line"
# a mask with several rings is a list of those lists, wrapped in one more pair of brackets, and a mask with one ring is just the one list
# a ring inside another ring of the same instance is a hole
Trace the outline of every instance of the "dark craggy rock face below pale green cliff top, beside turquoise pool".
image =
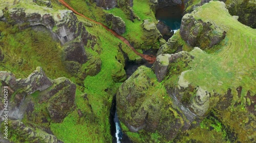
[(193, 14), (185, 14), (181, 20), (180, 35), (191, 46), (202, 49), (219, 44), (226, 32), (214, 22), (196, 20)]

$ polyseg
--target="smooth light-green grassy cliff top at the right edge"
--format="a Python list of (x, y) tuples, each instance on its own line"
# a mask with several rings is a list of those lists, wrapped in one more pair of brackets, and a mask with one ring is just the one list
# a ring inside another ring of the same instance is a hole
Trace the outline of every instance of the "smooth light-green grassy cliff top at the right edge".
[[(207, 13), (207, 14), (206, 14)], [(207, 54), (200, 49), (190, 52), (195, 56), (191, 69), (184, 78), (191, 84), (204, 87), (208, 92), (225, 94), (228, 88), (243, 87), (243, 96), (247, 91), (256, 93), (255, 55), (256, 30), (234, 19), (222, 2), (210, 2), (197, 8), (191, 15), (203, 22), (214, 21), (226, 32), (226, 44), (215, 54)], [(186, 16), (186, 15), (185, 15)]]

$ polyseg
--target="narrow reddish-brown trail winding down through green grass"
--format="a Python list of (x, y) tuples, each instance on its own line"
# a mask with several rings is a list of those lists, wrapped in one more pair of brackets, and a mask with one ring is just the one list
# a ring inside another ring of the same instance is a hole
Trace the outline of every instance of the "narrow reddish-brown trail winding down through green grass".
[(74, 10), (70, 5), (68, 5), (65, 1), (63, 0), (58, 0), (62, 5), (64, 5), (65, 7), (67, 7), (68, 9), (70, 9), (71, 11), (73, 11), (75, 14), (82, 16), (83, 18), (86, 18), (96, 24), (100, 24), (102, 27), (104, 27), (107, 31), (111, 32), (115, 37), (119, 38), (120, 40), (123, 41), (123, 43), (125, 43), (127, 46), (129, 46), (137, 55), (141, 56), (141, 58), (145, 59), (148, 63), (153, 64), (156, 61), (156, 56), (154, 55), (146, 55), (146, 54), (142, 54), (139, 53), (135, 50), (135, 48), (130, 44), (130, 42), (125, 39), (124, 37), (118, 35), (116, 32), (114, 32), (113, 30), (111, 30), (108, 26), (105, 26), (104, 24), (97, 22), (91, 18), (88, 18), (80, 13), (78, 13), (76, 10)]

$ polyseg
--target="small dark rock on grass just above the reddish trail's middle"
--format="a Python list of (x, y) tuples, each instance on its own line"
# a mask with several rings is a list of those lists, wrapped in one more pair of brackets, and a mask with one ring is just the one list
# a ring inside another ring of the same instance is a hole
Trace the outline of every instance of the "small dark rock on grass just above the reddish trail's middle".
[(114, 14), (106, 14), (106, 23), (119, 35), (125, 32), (126, 25), (121, 17), (115, 16)]

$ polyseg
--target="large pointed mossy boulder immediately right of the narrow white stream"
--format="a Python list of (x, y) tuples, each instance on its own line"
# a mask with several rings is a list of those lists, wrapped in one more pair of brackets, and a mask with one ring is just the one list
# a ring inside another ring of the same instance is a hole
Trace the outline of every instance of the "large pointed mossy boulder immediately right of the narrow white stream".
[(158, 140), (165, 142), (174, 138), (180, 130), (189, 127), (185, 115), (173, 106), (154, 72), (145, 66), (140, 66), (124, 81), (116, 99), (120, 121), (131, 132), (138, 132), (142, 138), (149, 135), (144, 134), (144, 131), (150, 134), (159, 133)]

